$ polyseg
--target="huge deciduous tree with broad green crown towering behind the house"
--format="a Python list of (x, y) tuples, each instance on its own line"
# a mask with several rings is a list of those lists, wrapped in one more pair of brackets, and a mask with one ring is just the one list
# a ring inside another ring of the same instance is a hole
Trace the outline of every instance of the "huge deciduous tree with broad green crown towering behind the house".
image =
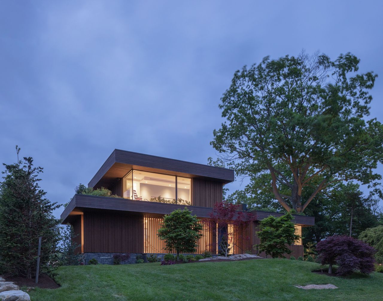
[(357, 74), (358, 64), (350, 53), (335, 61), (302, 53), (237, 70), (221, 98), (227, 121), (211, 144), (288, 211), (303, 212), (334, 182), (358, 180), (378, 191), (373, 169), (383, 161), (383, 129), (367, 118), (376, 75)]

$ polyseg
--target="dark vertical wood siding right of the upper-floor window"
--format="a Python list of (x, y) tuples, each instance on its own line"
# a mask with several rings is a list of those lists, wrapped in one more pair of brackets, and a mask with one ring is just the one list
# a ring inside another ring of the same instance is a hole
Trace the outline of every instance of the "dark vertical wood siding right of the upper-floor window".
[(193, 206), (213, 208), (214, 203), (222, 202), (222, 182), (199, 178), (193, 178), (191, 181), (191, 200)]

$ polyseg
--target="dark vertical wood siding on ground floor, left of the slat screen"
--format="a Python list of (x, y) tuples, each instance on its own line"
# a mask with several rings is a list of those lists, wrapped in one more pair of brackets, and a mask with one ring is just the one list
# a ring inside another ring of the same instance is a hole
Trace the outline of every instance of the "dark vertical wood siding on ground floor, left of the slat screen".
[(84, 212), (84, 252), (143, 253), (143, 217)]

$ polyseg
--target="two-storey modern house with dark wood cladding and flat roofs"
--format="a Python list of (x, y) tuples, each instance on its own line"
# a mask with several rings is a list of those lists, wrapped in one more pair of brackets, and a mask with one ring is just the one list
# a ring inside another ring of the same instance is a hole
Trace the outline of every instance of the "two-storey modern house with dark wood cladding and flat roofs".
[[(180, 160), (138, 154), (115, 149), (106, 159), (88, 187), (105, 187), (118, 197), (76, 194), (61, 214), (63, 224), (71, 224), (79, 252), (85, 260), (97, 258), (111, 263), (113, 254), (164, 254), (164, 241), (157, 230), (163, 216), (185, 206), (198, 218), (209, 218), (216, 202), (222, 202), (223, 185), (234, 181), (234, 171)], [(246, 206), (238, 206), (246, 211)], [(234, 253), (252, 250), (257, 244), (257, 227), (261, 219), (279, 213), (253, 211), (256, 220), (246, 233), (247, 242), (232, 248)], [(314, 225), (310, 216), (294, 216), (296, 232)], [(217, 235), (204, 225), (197, 254), (210, 250), (217, 254)], [(302, 242), (289, 246), (292, 256), (303, 256)], [(289, 255), (287, 255), (289, 257)]]

